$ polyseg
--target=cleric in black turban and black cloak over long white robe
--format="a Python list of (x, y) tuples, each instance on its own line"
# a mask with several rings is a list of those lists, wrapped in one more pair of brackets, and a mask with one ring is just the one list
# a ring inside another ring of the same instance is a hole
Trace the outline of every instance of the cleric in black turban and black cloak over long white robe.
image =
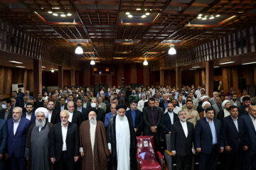
[(110, 119), (107, 142), (110, 149), (110, 170), (137, 169), (137, 139), (131, 118), (125, 115), (126, 106), (117, 106), (117, 115)]

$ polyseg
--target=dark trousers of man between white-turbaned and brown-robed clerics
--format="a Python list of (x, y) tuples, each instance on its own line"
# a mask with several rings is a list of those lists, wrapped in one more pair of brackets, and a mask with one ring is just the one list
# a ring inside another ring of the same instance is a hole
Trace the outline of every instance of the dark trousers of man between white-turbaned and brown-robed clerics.
[(66, 151), (62, 152), (60, 160), (56, 162), (57, 167), (55, 167), (58, 170), (73, 170), (75, 169), (75, 159), (72, 160), (68, 159), (68, 153)]

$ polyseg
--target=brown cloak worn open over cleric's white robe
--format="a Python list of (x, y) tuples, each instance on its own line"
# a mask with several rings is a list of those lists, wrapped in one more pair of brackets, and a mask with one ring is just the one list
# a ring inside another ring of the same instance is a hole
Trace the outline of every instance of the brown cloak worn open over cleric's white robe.
[(97, 120), (95, 130), (94, 155), (92, 156), (92, 145), (90, 140), (90, 121), (85, 120), (80, 125), (80, 147), (85, 154), (82, 157), (82, 169), (93, 170), (93, 158), (95, 170), (107, 170), (110, 152), (107, 147), (107, 137), (105, 127), (101, 121)]

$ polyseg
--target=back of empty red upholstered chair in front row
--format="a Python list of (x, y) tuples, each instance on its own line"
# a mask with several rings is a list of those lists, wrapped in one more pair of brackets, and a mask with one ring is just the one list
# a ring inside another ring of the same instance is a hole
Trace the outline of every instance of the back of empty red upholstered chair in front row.
[(137, 155), (139, 160), (156, 159), (153, 136), (137, 136)]

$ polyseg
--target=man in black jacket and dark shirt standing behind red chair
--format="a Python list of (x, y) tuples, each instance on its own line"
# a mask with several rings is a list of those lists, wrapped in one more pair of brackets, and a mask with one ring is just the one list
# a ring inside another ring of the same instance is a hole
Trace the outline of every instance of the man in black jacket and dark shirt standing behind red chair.
[(143, 108), (143, 117), (144, 117), (144, 135), (154, 136), (154, 143), (156, 146), (156, 150), (159, 149), (159, 125), (161, 123), (161, 109), (157, 108), (155, 104), (154, 98), (149, 98), (149, 106)]

